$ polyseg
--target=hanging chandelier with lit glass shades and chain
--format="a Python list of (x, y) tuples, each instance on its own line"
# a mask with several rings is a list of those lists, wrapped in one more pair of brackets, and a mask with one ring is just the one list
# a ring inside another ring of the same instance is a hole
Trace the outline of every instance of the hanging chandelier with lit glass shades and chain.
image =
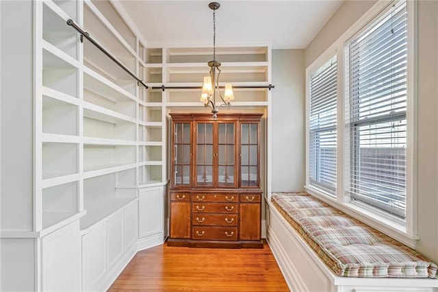
[(225, 84), (224, 95), (219, 90), (220, 62), (216, 61), (216, 10), (220, 8), (218, 2), (209, 3), (208, 7), (213, 10), (213, 60), (208, 62), (210, 67), (210, 75), (204, 77), (203, 91), (201, 93), (201, 101), (205, 108), (209, 106), (213, 118), (218, 117), (218, 108), (216, 108), (216, 94), (222, 99), (221, 106), (231, 106), (231, 101), (234, 99), (233, 86)]

